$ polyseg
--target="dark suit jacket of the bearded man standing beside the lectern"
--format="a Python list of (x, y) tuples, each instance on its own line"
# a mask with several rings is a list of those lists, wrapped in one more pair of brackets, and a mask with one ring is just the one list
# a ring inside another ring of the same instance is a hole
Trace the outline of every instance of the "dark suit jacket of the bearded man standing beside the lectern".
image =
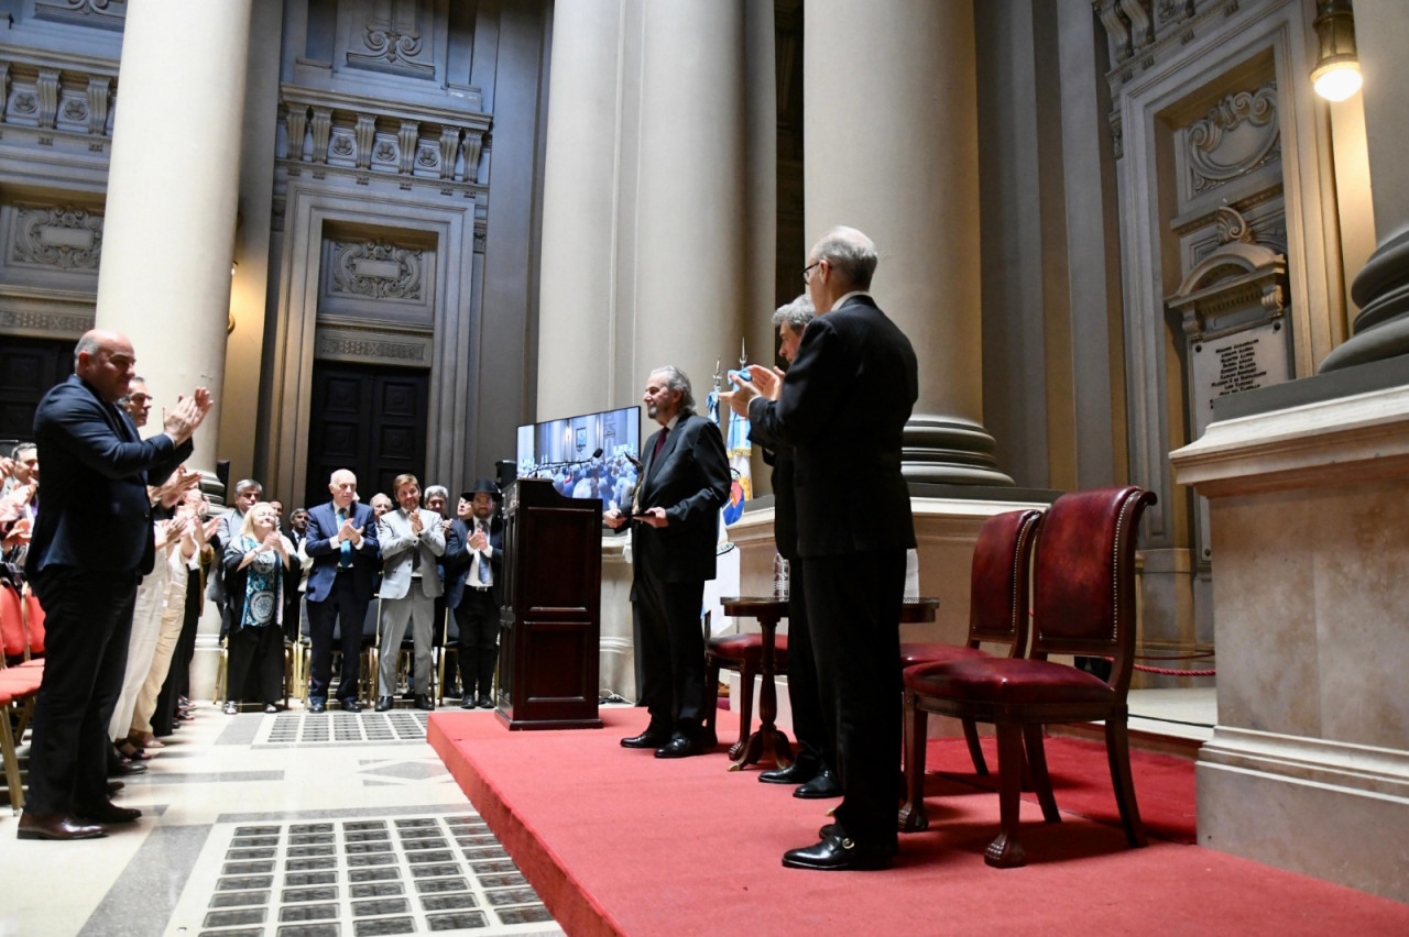
[(681, 412), (655, 457), (659, 435), (657, 431), (645, 442), (637, 501), (643, 512), (665, 508), (669, 525), (633, 522), (631, 561), (662, 582), (713, 580), (719, 511), (728, 499), (724, 438), (719, 426), (689, 412)]

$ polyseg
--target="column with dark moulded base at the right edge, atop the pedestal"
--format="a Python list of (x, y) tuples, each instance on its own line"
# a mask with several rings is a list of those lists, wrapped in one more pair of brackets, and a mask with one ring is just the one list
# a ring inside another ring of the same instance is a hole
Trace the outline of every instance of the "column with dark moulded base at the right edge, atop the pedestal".
[(1351, 284), (1354, 335), (1320, 371), (1409, 355), (1409, 17), (1401, 0), (1355, 0), (1365, 142), (1378, 245)]

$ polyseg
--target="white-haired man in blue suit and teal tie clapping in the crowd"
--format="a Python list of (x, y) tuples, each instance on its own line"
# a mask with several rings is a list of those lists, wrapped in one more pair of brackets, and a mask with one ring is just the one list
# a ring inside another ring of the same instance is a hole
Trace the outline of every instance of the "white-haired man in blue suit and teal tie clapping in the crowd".
[(333, 629), (342, 626), (342, 674), (338, 699), (342, 709), (356, 712), (358, 657), (362, 651), (362, 622), (382, 570), (372, 508), (356, 499), (356, 476), (338, 468), (328, 480), (333, 501), (309, 511), (309, 539), (304, 554), (313, 561), (309, 573), (309, 643), (311, 644), (309, 712), (327, 712), (333, 681)]

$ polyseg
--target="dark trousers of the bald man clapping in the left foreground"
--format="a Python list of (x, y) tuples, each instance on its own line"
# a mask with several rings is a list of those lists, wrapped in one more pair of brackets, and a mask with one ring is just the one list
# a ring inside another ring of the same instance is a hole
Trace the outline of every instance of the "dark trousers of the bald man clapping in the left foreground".
[(139, 578), (132, 570), (51, 566), (31, 580), (46, 629), (30, 743), (31, 813), (107, 803), (107, 723), (123, 691)]

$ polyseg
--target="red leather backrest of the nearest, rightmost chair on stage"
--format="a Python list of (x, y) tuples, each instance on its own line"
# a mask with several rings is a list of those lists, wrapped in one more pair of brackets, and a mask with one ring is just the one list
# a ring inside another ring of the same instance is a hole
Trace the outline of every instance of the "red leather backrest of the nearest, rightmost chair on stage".
[(1065, 494), (1043, 521), (1033, 573), (1033, 651), (1110, 657), (1130, 687), (1136, 643), (1136, 532), (1155, 497), (1143, 488)]

